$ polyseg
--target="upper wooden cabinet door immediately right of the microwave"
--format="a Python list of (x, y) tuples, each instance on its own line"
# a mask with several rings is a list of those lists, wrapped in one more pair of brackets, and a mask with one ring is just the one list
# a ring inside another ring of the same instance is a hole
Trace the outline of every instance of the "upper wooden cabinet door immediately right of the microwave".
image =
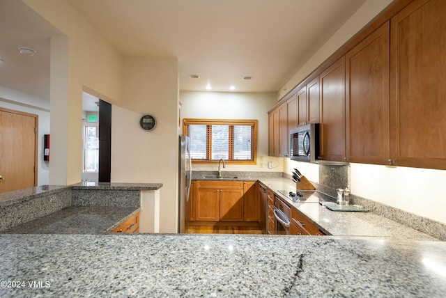
[(345, 57), (320, 75), (321, 88), (321, 158), (345, 161)]

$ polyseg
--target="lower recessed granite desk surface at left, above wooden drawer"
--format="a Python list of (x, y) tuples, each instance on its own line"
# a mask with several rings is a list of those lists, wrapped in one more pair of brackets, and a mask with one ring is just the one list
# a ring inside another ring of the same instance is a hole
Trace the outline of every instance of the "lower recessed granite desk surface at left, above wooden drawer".
[(0, 233), (104, 234), (140, 210), (134, 207), (70, 206)]

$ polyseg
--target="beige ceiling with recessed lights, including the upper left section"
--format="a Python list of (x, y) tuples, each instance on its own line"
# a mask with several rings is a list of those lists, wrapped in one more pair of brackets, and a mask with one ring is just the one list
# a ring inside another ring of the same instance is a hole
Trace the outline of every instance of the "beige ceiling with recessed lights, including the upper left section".
[[(365, 0), (68, 2), (123, 56), (178, 58), (181, 91), (277, 92)], [(58, 34), (21, 1), (1, 0), (0, 85), (49, 98)]]

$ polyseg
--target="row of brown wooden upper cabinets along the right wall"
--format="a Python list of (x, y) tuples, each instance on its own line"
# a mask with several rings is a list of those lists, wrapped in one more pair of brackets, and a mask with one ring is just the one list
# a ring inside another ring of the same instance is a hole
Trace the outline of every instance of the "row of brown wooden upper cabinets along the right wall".
[[(270, 119), (282, 108), (282, 129), (321, 123), (319, 159), (446, 169), (445, 12), (445, 0), (393, 1)], [(270, 127), (270, 155), (286, 156), (284, 132)]]

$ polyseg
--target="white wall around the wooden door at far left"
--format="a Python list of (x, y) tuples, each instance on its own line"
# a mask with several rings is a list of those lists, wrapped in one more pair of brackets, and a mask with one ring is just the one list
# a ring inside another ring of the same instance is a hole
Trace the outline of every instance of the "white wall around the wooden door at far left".
[(49, 134), (49, 109), (47, 100), (45, 101), (42, 98), (36, 98), (33, 95), (0, 86), (0, 107), (25, 113), (33, 113), (39, 116), (37, 185), (48, 185), (49, 162), (43, 160), (43, 135)]

